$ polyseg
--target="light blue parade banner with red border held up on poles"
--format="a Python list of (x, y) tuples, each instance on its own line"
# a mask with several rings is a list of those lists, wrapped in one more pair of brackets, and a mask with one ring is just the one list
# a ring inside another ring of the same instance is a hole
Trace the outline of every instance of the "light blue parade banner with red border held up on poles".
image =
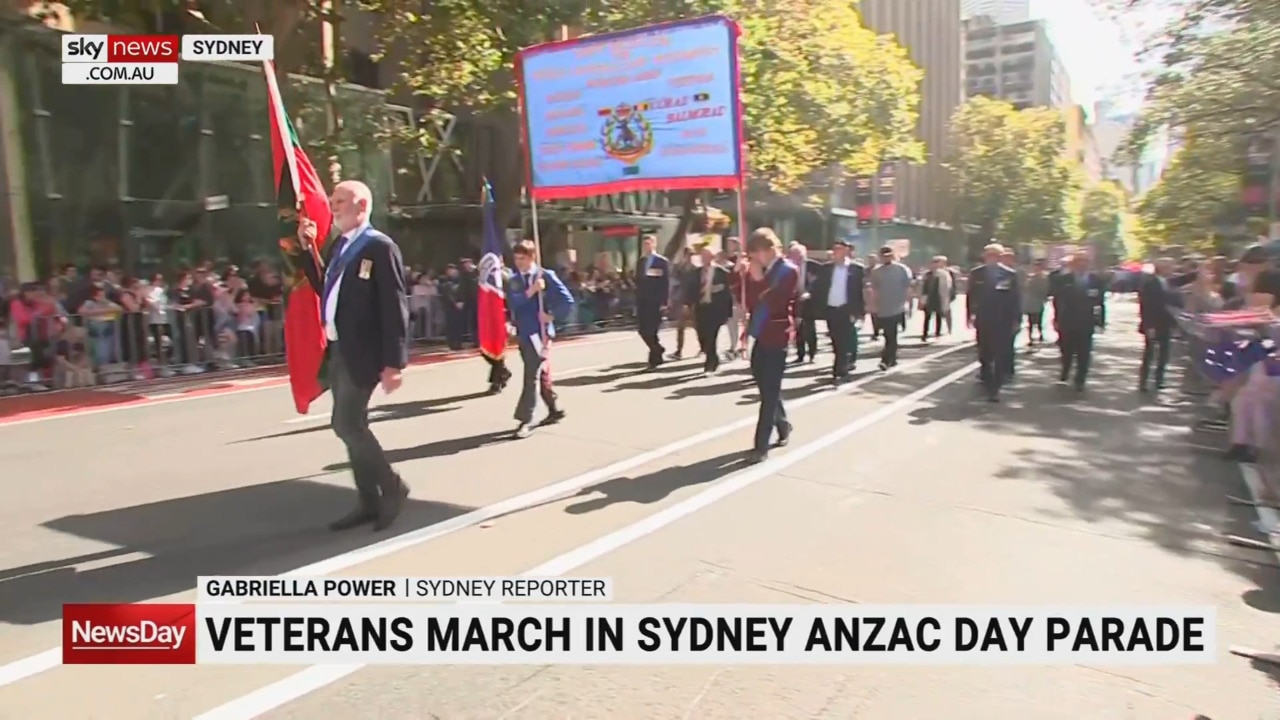
[(737, 45), (713, 15), (520, 51), (531, 199), (740, 188)]

